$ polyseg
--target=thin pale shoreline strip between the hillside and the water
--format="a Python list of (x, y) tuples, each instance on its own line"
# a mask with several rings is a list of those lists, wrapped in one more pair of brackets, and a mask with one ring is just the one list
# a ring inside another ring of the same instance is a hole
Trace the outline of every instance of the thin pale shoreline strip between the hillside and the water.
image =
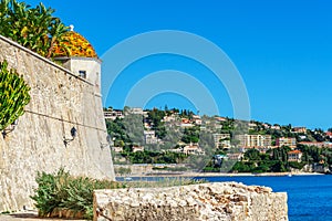
[(319, 172), (263, 172), (263, 173), (251, 173), (251, 172), (239, 172), (239, 173), (227, 173), (227, 172), (156, 172), (156, 173), (133, 173), (126, 176), (116, 176), (118, 178), (147, 178), (147, 177), (177, 177), (177, 178), (195, 178), (195, 177), (284, 177), (284, 176), (324, 176), (325, 173)]

